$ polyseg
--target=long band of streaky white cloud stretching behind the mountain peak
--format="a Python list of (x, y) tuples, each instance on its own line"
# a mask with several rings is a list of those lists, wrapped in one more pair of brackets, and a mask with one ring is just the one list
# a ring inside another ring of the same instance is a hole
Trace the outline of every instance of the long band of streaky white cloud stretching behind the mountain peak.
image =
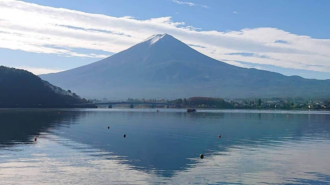
[(330, 39), (277, 28), (200, 31), (184, 22), (174, 22), (171, 17), (136, 20), (1, 0), (0, 17), (0, 48), (105, 58), (106, 55), (77, 51), (82, 48), (117, 53), (150, 35), (167, 33), (205, 55), (229, 63), (243, 61), (330, 72)]

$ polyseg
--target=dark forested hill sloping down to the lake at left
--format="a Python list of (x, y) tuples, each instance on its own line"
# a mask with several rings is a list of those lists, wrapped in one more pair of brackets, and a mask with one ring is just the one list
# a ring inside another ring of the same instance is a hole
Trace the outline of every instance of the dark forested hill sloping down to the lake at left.
[(0, 66), (0, 107), (72, 107), (70, 104), (87, 103), (70, 90), (44, 81), (22, 69)]

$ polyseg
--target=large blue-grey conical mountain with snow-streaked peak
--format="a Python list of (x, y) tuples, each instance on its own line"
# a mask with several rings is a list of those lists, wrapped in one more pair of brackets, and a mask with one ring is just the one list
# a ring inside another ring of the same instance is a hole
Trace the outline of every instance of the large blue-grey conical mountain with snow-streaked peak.
[(330, 80), (233, 66), (203, 55), (167, 34), (153, 35), (100, 61), (40, 77), (87, 97), (330, 95)]

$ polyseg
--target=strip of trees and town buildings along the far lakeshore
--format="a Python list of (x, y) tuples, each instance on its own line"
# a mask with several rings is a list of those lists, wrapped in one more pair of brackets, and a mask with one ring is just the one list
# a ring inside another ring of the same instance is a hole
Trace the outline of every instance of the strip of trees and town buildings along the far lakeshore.
[[(107, 98), (89, 99), (92, 103), (111, 103), (118, 102), (118, 100), (109, 101)], [(141, 104), (142, 107), (163, 107), (163, 105), (155, 105), (152, 103), (167, 103), (176, 104), (175, 106), (165, 106), (167, 108), (172, 107), (187, 107), (187, 108), (237, 108), (237, 109), (305, 109), (305, 110), (330, 110), (330, 99), (323, 100), (306, 100), (302, 98), (270, 98), (270, 99), (222, 99), (211, 97), (190, 97), (179, 98), (175, 100), (166, 99), (132, 99), (120, 102), (143, 102), (150, 103)], [(119, 105), (127, 106), (127, 105)], [(137, 107), (137, 106), (136, 106)]]

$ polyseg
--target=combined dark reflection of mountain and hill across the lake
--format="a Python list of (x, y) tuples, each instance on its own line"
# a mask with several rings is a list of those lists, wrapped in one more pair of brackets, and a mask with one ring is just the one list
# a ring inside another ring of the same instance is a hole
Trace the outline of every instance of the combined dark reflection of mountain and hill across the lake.
[[(89, 155), (118, 160), (132, 169), (171, 177), (177, 172), (231, 155), (235, 148), (281, 146), (286, 141), (329, 139), (328, 114), (202, 112), (178, 110), (29, 110), (1, 111), (0, 142), (31, 143), (51, 132), (72, 143), (104, 152)], [(317, 120), (317, 121), (315, 121)], [(321, 121), (320, 121), (321, 120)], [(108, 129), (107, 127), (110, 127)], [(123, 134), (127, 137), (123, 138)], [(221, 134), (221, 139), (217, 136)], [(69, 142), (68, 141), (68, 142)], [(75, 149), (79, 146), (68, 145)], [(200, 160), (199, 154), (205, 158)], [(116, 156), (116, 158), (109, 157)]]

